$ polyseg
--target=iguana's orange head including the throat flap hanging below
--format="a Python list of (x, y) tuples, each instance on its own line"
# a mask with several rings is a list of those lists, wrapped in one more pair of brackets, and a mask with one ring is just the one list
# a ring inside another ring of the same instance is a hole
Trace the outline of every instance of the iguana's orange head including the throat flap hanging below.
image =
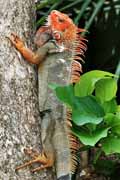
[(41, 47), (53, 38), (56, 44), (62, 44), (64, 47), (70, 48), (74, 42), (79, 40), (77, 34), (83, 31), (73, 23), (68, 15), (53, 10), (48, 16), (47, 24), (38, 29), (35, 44)]

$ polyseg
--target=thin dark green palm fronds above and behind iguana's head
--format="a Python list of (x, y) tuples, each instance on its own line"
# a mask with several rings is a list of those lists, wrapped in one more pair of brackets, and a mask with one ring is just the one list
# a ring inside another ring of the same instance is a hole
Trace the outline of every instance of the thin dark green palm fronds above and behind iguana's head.
[[(120, 9), (119, 0), (38, 0), (36, 9), (42, 17), (37, 21), (37, 25), (42, 25), (50, 11), (57, 9), (65, 13), (72, 12), (72, 14), (74, 14), (74, 22), (77, 25), (81, 19), (84, 19), (86, 21), (85, 29), (89, 29), (91, 24), (96, 20), (96, 16), (100, 10), (102, 10), (107, 17), (112, 7), (114, 7), (117, 13)], [(45, 9), (46, 11), (44, 11)]]

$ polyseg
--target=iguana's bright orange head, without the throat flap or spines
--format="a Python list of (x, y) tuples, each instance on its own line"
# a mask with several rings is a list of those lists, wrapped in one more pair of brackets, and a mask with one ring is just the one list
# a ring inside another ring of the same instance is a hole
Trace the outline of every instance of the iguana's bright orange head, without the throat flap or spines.
[(68, 15), (57, 10), (51, 11), (48, 16), (48, 26), (51, 27), (58, 42), (75, 41), (77, 27)]

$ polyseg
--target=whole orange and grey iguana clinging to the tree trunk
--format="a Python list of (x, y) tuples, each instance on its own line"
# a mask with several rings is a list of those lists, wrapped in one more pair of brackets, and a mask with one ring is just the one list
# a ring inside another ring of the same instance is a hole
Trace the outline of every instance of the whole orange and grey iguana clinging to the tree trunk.
[[(65, 122), (66, 109), (48, 89), (48, 83), (53, 80), (59, 84), (78, 81), (81, 66), (76, 61), (80, 60), (77, 54), (83, 54), (83, 50), (86, 49), (83, 39), (78, 37), (80, 31), (81, 29), (78, 29), (67, 15), (54, 10), (48, 17), (47, 26), (40, 28), (36, 34), (36, 44), (39, 46), (36, 53), (26, 48), (14, 34), (10, 38), (26, 60), (34, 64), (42, 62), (38, 68), (38, 81), (39, 108), (43, 112), (41, 123), (43, 151), (40, 155), (35, 153), (33, 161), (17, 169), (40, 162), (42, 166), (34, 169), (34, 172), (51, 167), (55, 163), (57, 179), (71, 180), (71, 173), (76, 166), (75, 153), (78, 150), (78, 143), (70, 133), (70, 126), (68, 127)], [(50, 42), (50, 39), (55, 39), (55, 43)], [(74, 60), (72, 69), (69, 60)], [(67, 111), (67, 119), (71, 119), (70, 111)], [(30, 151), (28, 153), (31, 154)]]

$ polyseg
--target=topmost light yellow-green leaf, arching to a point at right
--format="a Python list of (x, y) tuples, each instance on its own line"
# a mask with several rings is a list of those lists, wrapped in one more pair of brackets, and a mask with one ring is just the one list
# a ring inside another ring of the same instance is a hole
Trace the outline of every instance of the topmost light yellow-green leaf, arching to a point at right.
[(113, 77), (114, 74), (99, 70), (94, 70), (83, 74), (80, 81), (75, 85), (75, 95), (82, 97), (92, 94), (96, 82), (105, 78), (106, 76)]

